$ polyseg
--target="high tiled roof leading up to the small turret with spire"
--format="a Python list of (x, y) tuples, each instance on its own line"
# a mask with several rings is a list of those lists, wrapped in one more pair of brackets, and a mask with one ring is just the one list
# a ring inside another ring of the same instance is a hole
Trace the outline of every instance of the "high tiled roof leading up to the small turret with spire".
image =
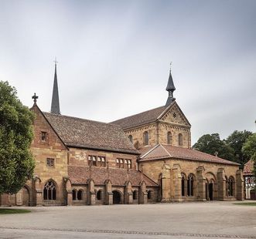
[(148, 111), (138, 113), (133, 116), (128, 116), (121, 120), (113, 121), (111, 123), (121, 126), (122, 129), (128, 129), (134, 126), (142, 125), (144, 123), (150, 123), (156, 120), (165, 109), (166, 106), (160, 106), (158, 108), (150, 109)]

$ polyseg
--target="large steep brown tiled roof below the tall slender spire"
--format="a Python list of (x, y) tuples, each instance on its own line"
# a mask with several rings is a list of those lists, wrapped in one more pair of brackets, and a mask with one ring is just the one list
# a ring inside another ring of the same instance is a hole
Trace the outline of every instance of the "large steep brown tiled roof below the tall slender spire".
[(67, 146), (138, 153), (121, 126), (53, 113), (43, 114)]

